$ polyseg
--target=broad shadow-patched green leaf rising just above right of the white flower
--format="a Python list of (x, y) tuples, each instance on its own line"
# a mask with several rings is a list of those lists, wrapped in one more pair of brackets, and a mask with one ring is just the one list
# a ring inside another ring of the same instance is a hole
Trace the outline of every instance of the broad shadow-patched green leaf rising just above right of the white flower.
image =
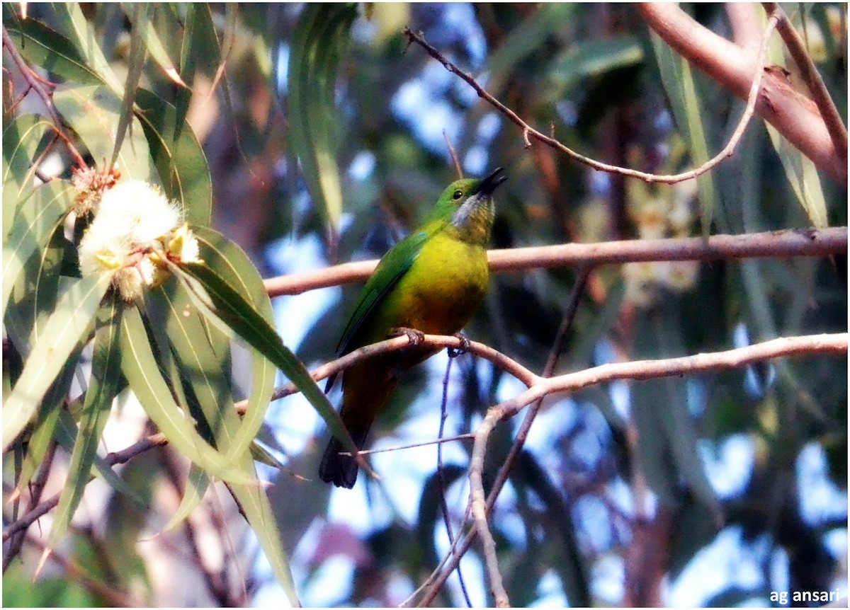
[(136, 105), (166, 195), (183, 204), (190, 224), (206, 227), (212, 215), (212, 178), (195, 133), (188, 123), (176, 122), (173, 105), (150, 91), (139, 89)]

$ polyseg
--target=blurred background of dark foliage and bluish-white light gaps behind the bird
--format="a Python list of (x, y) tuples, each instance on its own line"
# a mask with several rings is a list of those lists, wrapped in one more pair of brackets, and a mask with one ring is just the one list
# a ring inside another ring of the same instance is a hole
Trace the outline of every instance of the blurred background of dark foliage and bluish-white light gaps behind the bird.
[[(123, 78), (132, 65), (131, 15), (118, 4), (81, 8)], [(846, 5), (785, 8), (846, 122)], [(729, 37), (723, 5), (686, 9)], [(67, 24), (55, 9), (28, 4), (26, 21), (18, 5), (3, 10), (14, 43), (42, 76), (73, 81), (40, 63), (34, 41), (49, 33), (25, 36), (27, 28), (62, 34)], [(466, 175), (507, 168), (497, 248), (812, 224), (762, 121), (699, 189), (643, 184), (540, 144), (525, 147), (518, 128), (401, 34), (405, 25), (422, 31), (525, 121), (544, 132), (552, 126), (584, 155), (647, 172), (692, 167), (694, 125), (677, 109), (698, 104), (702, 144), (713, 155), (744, 104), (699, 70), (684, 87), (676, 79), (687, 65), (654, 44), (625, 4), (157, 4), (149, 14), (139, 83), (184, 113), (212, 177), (212, 226), (263, 277), (379, 257), (456, 178), (447, 142)], [(84, 70), (76, 77), (87, 82)], [(10, 91), (4, 86), (4, 110)], [(156, 120), (156, 109), (144, 112)], [(57, 160), (57, 171), (68, 161)], [(202, 189), (205, 179), (190, 172), (184, 187), (197, 181)], [(808, 187), (822, 193), (830, 226), (847, 224), (845, 185), (824, 177)], [(597, 268), (557, 372), (845, 331), (841, 269), (803, 258)], [(467, 334), (539, 372), (575, 278), (570, 268), (496, 274)], [(358, 289), (275, 299), (278, 330), (305, 364), (332, 358)], [(439, 356), (405, 376), (372, 432), (376, 448), (436, 436), (445, 362)], [(234, 366), (237, 378), (240, 366), (249, 370), (239, 358)], [(549, 399), (492, 517), (513, 604), (736, 605), (768, 603), (771, 590), (836, 588), (846, 595), (846, 370), (846, 359), (796, 358)], [(487, 406), (519, 391), (471, 355), (456, 360), (450, 379), (447, 433), (473, 429)], [(292, 472), (314, 479), (326, 432), (299, 400), (273, 404), (260, 439)], [(498, 429), (487, 472), (495, 474), (515, 426)], [(444, 449), (455, 529), (471, 446)], [(398, 604), (436, 567), (448, 544), (435, 453), (378, 454), (382, 480), (362, 477), (350, 492), (263, 471), (305, 605)], [(176, 461), (155, 449), (123, 467), (150, 500), (144, 511), (90, 485), (86, 514), (59, 549), (86, 578), (48, 565), (45, 586), (32, 586), (40, 550), (31, 548), (4, 573), (4, 605), (121, 602), (89, 581), (157, 605), (279, 604), (280, 589), (262, 559), (252, 559), (258, 547), (220, 490), (182, 531), (137, 544), (178, 502), (184, 474)], [(8, 468), (4, 486), (7, 479)], [(195, 558), (178, 566), (174, 553)], [(491, 604), (477, 553), (462, 562), (463, 576), (473, 602)], [(706, 581), (706, 569), (717, 578)], [(74, 585), (54, 587), (54, 579)], [(464, 604), (455, 577), (437, 603)]]

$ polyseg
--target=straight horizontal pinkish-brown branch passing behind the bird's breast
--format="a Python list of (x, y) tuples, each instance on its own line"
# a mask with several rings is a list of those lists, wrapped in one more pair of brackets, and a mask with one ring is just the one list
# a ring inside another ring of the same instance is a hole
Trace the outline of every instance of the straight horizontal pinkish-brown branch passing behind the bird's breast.
[[(670, 240), (604, 241), (598, 244), (560, 244), (491, 250), (490, 271), (519, 271), (580, 264), (643, 261), (709, 261), (721, 258), (823, 257), (847, 252), (847, 228), (786, 229), (768, 233), (712, 235)], [(300, 274), (264, 280), (269, 297), (300, 294), (316, 288), (368, 278), (377, 261), (344, 263)]]

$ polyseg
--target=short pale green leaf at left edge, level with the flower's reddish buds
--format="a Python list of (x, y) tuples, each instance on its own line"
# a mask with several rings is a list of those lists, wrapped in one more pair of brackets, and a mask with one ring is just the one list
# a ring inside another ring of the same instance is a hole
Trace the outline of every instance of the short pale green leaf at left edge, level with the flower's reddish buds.
[(37, 168), (32, 161), (44, 134), (53, 129), (53, 123), (38, 115), (18, 116), (3, 129), (4, 240), (14, 223), (20, 201), (25, 201), (36, 189), (34, 178)]

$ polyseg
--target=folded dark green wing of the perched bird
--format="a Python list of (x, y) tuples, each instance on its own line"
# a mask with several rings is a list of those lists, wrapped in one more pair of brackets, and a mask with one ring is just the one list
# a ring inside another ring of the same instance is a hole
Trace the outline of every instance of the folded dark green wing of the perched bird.
[(377, 304), (388, 295), (389, 291), (393, 290), (394, 285), (398, 284), (411, 268), (416, 257), (422, 252), (422, 246), (432, 234), (433, 231), (427, 230), (411, 233), (384, 255), (375, 268), (375, 272), (371, 274), (363, 290), (360, 291), (354, 313), (348, 319), (343, 336), (337, 345), (337, 356), (343, 356), (360, 347), (355, 344), (355, 337), (365, 327)]

